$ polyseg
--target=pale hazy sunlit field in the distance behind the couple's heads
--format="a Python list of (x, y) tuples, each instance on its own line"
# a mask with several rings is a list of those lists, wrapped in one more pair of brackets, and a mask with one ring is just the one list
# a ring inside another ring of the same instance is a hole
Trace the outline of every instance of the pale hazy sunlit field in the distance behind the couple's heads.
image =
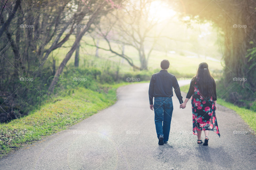
[[(59, 50), (55, 50), (53, 53), (53, 56), (56, 55), (57, 63), (60, 63), (61, 60), (65, 57), (67, 52), (70, 50), (70, 47), (72, 46), (74, 42), (74, 36), (70, 38), (69, 41), (67, 41), (63, 46), (63, 48)], [(80, 63), (87, 63), (88, 65), (95, 67), (101, 67), (105, 64), (106, 60), (113, 61), (116, 65), (121, 66), (120, 71), (132, 71), (133, 69), (130, 67), (130, 65), (121, 57), (114, 56), (111, 52), (101, 50), (99, 49), (99, 58), (94, 57), (96, 48), (86, 45), (93, 44), (93, 41), (90, 37), (84, 36), (80, 43)], [(100, 41), (99, 46), (108, 48), (105, 41)], [(113, 43), (113, 49), (117, 50), (118, 52), (121, 51), (121, 46), (118, 46), (117, 44)], [(147, 51), (146, 51), (147, 52)], [(125, 47), (125, 54), (133, 59), (133, 62), (135, 65), (139, 66), (139, 57), (137, 51), (129, 46)], [(69, 63), (74, 62), (74, 56), (71, 57)], [(179, 73), (181, 75), (194, 75), (196, 73), (198, 64), (200, 62), (207, 62), (209, 65), (209, 69), (211, 72), (216, 72), (219, 74), (219, 72), (222, 70), (221, 62), (218, 61), (211, 61), (211, 60), (205, 60), (205, 58), (191, 58), (189, 57), (191, 54), (176, 52), (176, 53), (165, 53), (157, 50), (153, 50), (148, 63), (148, 69), (154, 70), (154, 69), (160, 69), (160, 62), (163, 59), (167, 59), (170, 61), (170, 69), (169, 72)], [(213, 57), (213, 56), (210, 56)], [(93, 63), (93, 64), (90, 64)]]

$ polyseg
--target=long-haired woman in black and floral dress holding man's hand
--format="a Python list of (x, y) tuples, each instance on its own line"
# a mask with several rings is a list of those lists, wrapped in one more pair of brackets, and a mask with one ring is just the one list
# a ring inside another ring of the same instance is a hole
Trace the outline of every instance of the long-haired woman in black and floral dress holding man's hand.
[[(197, 135), (197, 143), (208, 145), (210, 130), (216, 132), (219, 137), (220, 134), (215, 116), (215, 110), (217, 109), (216, 84), (206, 62), (199, 64), (197, 74), (192, 78), (186, 99), (181, 105), (182, 108), (186, 107), (191, 96), (193, 134)], [(204, 142), (201, 140), (202, 130), (205, 133)]]

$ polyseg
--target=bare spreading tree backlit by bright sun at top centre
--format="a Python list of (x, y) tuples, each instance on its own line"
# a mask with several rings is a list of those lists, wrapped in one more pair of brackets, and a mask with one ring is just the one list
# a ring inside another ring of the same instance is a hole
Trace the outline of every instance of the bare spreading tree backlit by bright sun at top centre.
[[(155, 27), (161, 22), (149, 17), (151, 2), (153, 1), (128, 1), (122, 10), (113, 11), (104, 16), (101, 23), (97, 25), (95, 32), (96, 37), (101, 36), (109, 48), (102, 48), (95, 42), (94, 46), (124, 58), (135, 69), (147, 70), (150, 54), (159, 38), (163, 36), (161, 31), (155, 32)], [(135, 48), (139, 54), (140, 67), (133, 64), (131, 57), (122, 54), (119, 52), (120, 50), (114, 50), (111, 42), (120, 44), (122, 48), (124, 45)]]

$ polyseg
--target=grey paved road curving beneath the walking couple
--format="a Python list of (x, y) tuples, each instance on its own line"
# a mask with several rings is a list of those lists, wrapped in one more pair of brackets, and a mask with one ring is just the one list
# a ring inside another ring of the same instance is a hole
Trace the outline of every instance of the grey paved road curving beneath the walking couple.
[(119, 88), (116, 104), (1, 159), (0, 169), (256, 169), (255, 135), (220, 105), (221, 137), (210, 132), (209, 146), (202, 146), (192, 134), (190, 102), (179, 109), (174, 96), (169, 143), (159, 146), (148, 87)]

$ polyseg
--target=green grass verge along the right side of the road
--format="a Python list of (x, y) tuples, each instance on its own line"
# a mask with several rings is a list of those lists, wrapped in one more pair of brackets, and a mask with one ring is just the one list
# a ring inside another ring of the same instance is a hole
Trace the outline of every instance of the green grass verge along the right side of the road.
[[(185, 86), (181, 86), (181, 91), (187, 93), (189, 91), (190, 84), (187, 84)], [(242, 119), (250, 126), (251, 129), (254, 130), (254, 133), (256, 133), (256, 112), (251, 111), (249, 109), (238, 107), (232, 103), (226, 102), (223, 99), (218, 99), (218, 93), (217, 93), (217, 103), (227, 107), (229, 109), (232, 109), (237, 114), (239, 114)]]

